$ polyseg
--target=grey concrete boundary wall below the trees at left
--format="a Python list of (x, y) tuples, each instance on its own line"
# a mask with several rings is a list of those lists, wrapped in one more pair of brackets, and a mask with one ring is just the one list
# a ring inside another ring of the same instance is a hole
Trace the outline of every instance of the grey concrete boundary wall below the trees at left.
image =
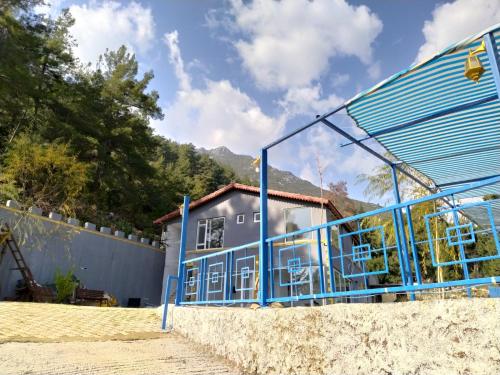
[[(53, 284), (58, 270), (71, 271), (83, 286), (111, 293), (122, 306), (129, 298), (160, 304), (165, 252), (149, 240), (128, 240), (123, 232), (113, 235), (95, 226), (83, 228), (77, 221), (69, 224), (57, 215), (45, 217), (12, 207), (0, 207), (0, 222), (9, 223), (40, 284)], [(0, 299), (15, 296), (19, 279), (15, 261), (6, 252), (0, 263)]]

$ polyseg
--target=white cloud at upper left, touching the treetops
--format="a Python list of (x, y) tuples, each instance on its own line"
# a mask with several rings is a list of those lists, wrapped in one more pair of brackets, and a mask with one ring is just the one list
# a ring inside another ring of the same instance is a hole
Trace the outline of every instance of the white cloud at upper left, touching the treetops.
[(135, 1), (124, 5), (91, 0), (69, 9), (75, 18), (71, 28), (78, 43), (75, 54), (83, 63), (95, 63), (106, 48), (116, 50), (126, 45), (135, 53), (145, 53), (152, 46), (155, 34), (152, 11)]

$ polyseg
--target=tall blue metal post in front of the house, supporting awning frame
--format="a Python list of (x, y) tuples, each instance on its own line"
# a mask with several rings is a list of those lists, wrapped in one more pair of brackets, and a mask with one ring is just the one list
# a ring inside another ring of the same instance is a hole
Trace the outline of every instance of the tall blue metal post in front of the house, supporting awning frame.
[(259, 299), (267, 305), (267, 149), (260, 152), (260, 246), (259, 246)]

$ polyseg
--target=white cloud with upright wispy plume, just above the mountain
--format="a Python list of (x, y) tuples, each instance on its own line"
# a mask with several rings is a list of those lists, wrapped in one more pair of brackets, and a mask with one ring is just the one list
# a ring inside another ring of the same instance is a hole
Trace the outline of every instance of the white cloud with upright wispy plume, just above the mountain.
[(180, 142), (213, 148), (227, 146), (238, 153), (256, 155), (261, 146), (283, 131), (285, 116), (272, 117), (227, 80), (205, 80), (205, 87), (191, 86), (184, 69), (177, 32), (165, 35), (179, 91), (165, 109), (166, 118), (153, 126), (163, 135)]

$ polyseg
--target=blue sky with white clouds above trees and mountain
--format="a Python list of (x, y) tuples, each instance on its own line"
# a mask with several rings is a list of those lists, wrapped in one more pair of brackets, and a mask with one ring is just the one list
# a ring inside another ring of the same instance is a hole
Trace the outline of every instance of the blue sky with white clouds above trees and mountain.
[[(256, 156), (261, 146), (359, 91), (500, 22), (498, 0), (73, 1), (82, 62), (125, 44), (153, 70), (163, 121), (158, 134)], [(361, 136), (345, 114), (333, 121)], [(270, 163), (318, 183), (346, 180), (378, 162), (316, 126), (273, 149)], [(376, 145), (375, 145), (376, 147)]]

